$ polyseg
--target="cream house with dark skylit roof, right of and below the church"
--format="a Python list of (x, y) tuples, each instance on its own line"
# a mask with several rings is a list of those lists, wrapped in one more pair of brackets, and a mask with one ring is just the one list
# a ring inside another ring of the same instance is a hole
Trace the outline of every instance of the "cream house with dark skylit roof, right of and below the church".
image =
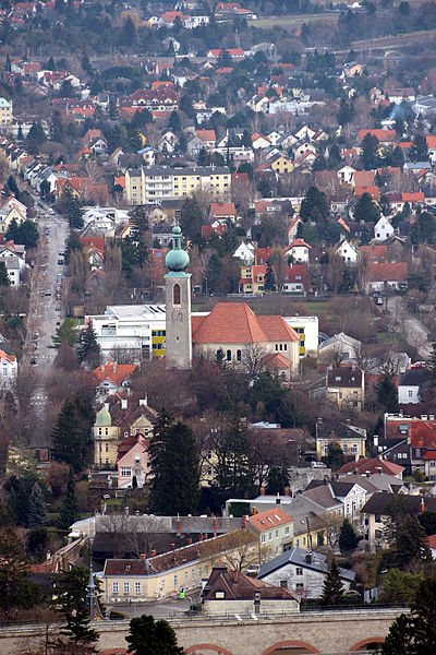
[(363, 412), (365, 403), (365, 373), (354, 365), (341, 364), (329, 368), (326, 379), (326, 397), (339, 409)]

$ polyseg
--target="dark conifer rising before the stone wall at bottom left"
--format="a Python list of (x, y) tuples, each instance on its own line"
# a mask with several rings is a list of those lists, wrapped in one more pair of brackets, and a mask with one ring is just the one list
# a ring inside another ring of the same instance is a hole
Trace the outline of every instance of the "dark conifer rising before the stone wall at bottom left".
[(73, 568), (61, 573), (56, 581), (56, 599), (53, 608), (61, 612), (66, 620), (66, 628), (62, 630), (74, 646), (83, 651), (96, 652), (93, 647), (98, 640), (98, 632), (89, 627), (89, 611), (87, 606), (88, 572), (83, 568)]

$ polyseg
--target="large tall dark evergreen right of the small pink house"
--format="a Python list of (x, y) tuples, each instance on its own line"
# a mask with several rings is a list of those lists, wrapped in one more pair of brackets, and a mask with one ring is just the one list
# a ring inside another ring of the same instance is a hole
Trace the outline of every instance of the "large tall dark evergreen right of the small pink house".
[[(157, 514), (191, 514), (198, 503), (199, 461), (192, 430), (162, 409), (149, 444), (152, 507)], [(175, 491), (175, 492), (174, 492)]]

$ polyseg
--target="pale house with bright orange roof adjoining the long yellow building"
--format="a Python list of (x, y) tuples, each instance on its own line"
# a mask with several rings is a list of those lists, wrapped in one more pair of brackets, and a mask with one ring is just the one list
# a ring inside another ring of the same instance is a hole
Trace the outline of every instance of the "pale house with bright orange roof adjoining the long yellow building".
[(280, 508), (254, 512), (246, 525), (259, 541), (261, 562), (281, 555), (292, 545), (293, 519)]

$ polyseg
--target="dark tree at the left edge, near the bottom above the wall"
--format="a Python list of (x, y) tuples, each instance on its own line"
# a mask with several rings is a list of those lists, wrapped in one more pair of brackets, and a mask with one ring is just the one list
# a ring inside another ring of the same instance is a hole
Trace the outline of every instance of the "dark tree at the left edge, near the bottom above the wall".
[(0, 609), (8, 618), (39, 600), (38, 588), (29, 577), (24, 546), (11, 527), (0, 532)]

